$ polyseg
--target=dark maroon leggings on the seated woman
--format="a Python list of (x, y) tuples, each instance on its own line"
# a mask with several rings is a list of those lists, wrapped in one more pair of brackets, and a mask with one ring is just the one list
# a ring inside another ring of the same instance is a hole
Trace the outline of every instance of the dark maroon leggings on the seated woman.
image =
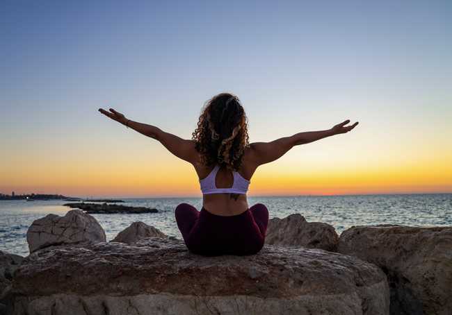
[(234, 216), (219, 216), (204, 207), (181, 203), (175, 211), (177, 226), (193, 253), (207, 256), (252, 255), (264, 246), (268, 210), (257, 203)]

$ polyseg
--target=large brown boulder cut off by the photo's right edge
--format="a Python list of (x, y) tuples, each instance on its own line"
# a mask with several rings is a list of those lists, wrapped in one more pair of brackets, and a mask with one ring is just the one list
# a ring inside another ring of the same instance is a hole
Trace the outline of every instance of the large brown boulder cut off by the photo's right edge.
[(338, 251), (387, 273), (392, 314), (452, 314), (452, 228), (353, 227)]

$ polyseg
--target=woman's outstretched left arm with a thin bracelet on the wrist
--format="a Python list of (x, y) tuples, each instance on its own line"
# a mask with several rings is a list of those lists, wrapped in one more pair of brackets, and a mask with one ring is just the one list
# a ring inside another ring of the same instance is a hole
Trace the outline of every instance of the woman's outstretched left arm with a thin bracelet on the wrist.
[(102, 114), (110, 117), (115, 121), (118, 121), (124, 126), (136, 130), (142, 135), (156, 139), (161, 144), (163, 144), (163, 146), (165, 146), (168, 151), (181, 158), (182, 160), (191, 162), (192, 164), (195, 162), (197, 151), (195, 149), (195, 143), (193, 142), (193, 140), (182, 139), (181, 137), (177, 137), (177, 135), (166, 133), (156, 126), (143, 124), (138, 121), (127, 119), (124, 114), (113, 110), (113, 108), (110, 108), (110, 112), (99, 108), (99, 112), (102, 112)]

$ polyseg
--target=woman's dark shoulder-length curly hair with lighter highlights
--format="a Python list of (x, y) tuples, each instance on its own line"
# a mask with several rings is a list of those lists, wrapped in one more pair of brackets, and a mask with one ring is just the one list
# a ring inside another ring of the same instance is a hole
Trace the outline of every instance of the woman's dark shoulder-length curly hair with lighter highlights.
[(195, 148), (205, 166), (219, 164), (239, 171), (248, 142), (248, 119), (239, 98), (220, 93), (204, 104), (193, 133)]

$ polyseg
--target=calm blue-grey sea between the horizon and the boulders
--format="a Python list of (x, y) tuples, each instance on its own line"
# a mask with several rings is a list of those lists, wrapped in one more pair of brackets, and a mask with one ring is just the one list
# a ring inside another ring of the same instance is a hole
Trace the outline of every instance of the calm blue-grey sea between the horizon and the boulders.
[[(134, 221), (154, 225), (167, 235), (181, 237), (174, 218), (179, 203), (198, 210), (201, 198), (124, 199), (124, 205), (155, 207), (157, 214), (94, 214), (107, 240)], [(0, 201), (0, 250), (28, 255), (26, 230), (35, 219), (49, 213), (63, 216), (65, 201)], [(393, 223), (412, 226), (452, 225), (452, 194), (248, 197), (249, 205), (264, 203), (270, 217), (300, 213), (307, 221), (330, 223), (338, 234), (352, 225)]]

